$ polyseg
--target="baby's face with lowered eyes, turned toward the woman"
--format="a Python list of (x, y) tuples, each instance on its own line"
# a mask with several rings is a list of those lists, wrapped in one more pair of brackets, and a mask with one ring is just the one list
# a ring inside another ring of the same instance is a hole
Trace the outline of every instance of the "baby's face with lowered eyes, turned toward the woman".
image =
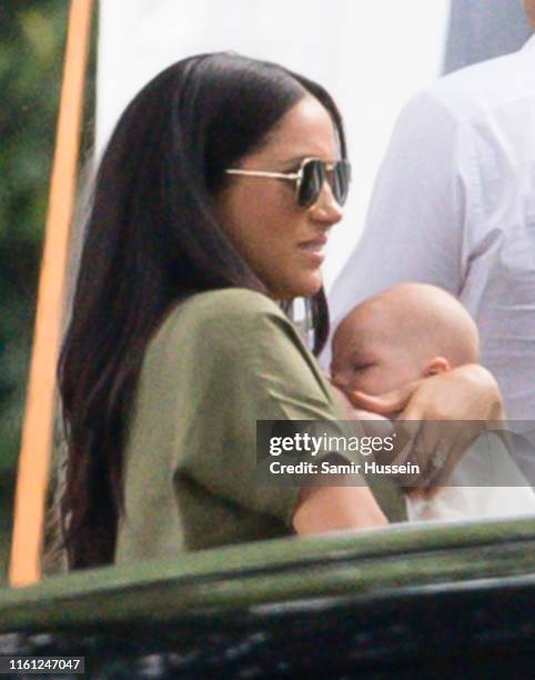
[[(396, 338), (402, 340), (397, 341)], [(336, 330), (331, 376), (344, 392), (383, 394), (421, 377), (415, 348), (373, 313), (354, 312)]]

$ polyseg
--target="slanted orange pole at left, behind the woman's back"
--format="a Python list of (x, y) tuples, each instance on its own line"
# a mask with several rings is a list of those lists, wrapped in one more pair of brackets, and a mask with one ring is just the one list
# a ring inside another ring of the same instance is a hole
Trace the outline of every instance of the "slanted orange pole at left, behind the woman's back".
[(69, 231), (78, 154), (92, 0), (71, 0), (57, 144), (39, 280), (33, 350), (14, 504), (10, 582), (39, 580), (53, 427), (55, 364), (61, 340)]

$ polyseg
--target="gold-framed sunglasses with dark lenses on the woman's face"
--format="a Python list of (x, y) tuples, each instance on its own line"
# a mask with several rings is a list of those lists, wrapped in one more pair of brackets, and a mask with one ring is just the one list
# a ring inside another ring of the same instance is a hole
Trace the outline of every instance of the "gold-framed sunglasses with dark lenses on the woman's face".
[(310, 208), (320, 198), (325, 180), (329, 181), (333, 196), (343, 206), (347, 199), (351, 181), (351, 164), (346, 160), (324, 161), (317, 158), (305, 158), (297, 172), (269, 172), (266, 170), (225, 170), (228, 174), (245, 177), (269, 177), (286, 180), (295, 184), (295, 197), (301, 208)]

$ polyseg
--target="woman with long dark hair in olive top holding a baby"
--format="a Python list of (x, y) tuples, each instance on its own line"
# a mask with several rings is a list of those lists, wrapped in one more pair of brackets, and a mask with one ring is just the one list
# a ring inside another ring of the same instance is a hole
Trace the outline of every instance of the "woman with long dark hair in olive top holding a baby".
[[(129, 106), (98, 171), (60, 360), (71, 568), (396, 519), (367, 487), (254, 481), (258, 419), (342, 418), (280, 303), (311, 300), (320, 351), (320, 268), (347, 184), (334, 102), (281, 67), (193, 57)], [(461, 417), (499, 401), (475, 368), (437, 383), (433, 404), (440, 384), (474, 398)]]

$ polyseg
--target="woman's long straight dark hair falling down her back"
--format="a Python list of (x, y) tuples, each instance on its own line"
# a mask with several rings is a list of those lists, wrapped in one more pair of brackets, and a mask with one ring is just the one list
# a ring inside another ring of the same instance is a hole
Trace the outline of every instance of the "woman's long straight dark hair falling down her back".
[[(113, 561), (122, 450), (142, 358), (188, 293), (262, 282), (218, 227), (211, 198), (225, 168), (265, 142), (305, 92), (341, 117), (320, 86), (235, 54), (201, 54), (130, 103), (100, 163), (72, 317), (59, 362), (68, 441), (62, 521), (71, 569)], [(314, 350), (329, 332), (323, 289), (311, 299)]]

